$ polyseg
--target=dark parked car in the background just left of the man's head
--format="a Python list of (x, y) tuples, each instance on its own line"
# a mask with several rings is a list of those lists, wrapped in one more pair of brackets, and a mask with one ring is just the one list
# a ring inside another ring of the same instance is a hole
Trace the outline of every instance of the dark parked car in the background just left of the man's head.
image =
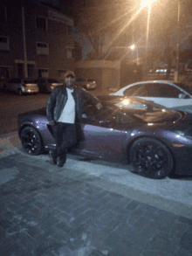
[(39, 88), (39, 93), (51, 93), (56, 86), (63, 85), (55, 79), (39, 78), (36, 80)]

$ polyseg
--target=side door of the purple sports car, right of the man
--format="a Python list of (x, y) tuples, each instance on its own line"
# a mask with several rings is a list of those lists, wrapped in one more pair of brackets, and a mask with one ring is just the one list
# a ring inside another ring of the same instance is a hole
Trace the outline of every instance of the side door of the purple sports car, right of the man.
[(79, 151), (84, 155), (108, 159), (121, 159), (123, 142), (127, 135), (121, 133), (116, 112), (89, 107), (82, 114)]

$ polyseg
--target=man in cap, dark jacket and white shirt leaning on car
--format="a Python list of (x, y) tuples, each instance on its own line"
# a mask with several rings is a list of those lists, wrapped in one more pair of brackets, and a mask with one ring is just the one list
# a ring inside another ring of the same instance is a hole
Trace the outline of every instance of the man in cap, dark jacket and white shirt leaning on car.
[(99, 100), (86, 90), (75, 86), (75, 74), (65, 72), (65, 85), (57, 86), (47, 100), (46, 115), (56, 141), (56, 149), (50, 151), (53, 164), (63, 167), (66, 150), (77, 142), (77, 123), (81, 119), (81, 107), (87, 100), (100, 109)]

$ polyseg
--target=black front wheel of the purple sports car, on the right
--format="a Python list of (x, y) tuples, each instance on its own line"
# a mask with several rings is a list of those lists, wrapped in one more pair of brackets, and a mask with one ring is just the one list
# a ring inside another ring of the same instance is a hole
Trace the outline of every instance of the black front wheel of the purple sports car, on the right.
[(174, 168), (169, 149), (152, 138), (135, 141), (129, 151), (129, 159), (135, 173), (149, 178), (165, 178)]

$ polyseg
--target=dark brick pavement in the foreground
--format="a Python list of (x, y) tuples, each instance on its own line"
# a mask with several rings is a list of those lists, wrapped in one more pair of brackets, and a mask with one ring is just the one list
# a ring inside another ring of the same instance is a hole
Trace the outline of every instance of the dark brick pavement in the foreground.
[(0, 255), (192, 255), (192, 219), (88, 183), (94, 176), (34, 167), (27, 157), (0, 159)]

